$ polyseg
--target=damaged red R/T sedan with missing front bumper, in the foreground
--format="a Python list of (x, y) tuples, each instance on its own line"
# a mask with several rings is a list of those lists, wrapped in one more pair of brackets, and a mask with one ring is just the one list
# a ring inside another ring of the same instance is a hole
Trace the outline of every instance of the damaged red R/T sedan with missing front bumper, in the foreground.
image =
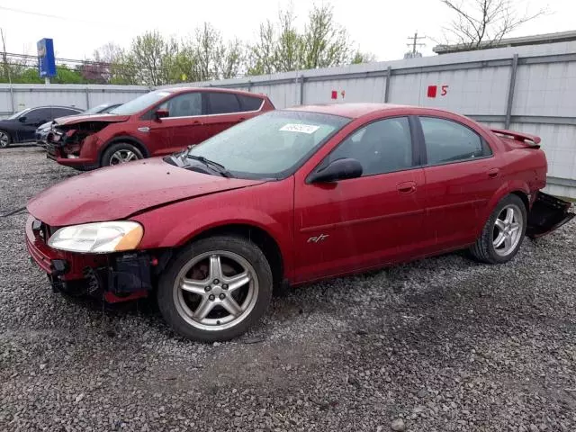
[(78, 175), (28, 204), (54, 288), (156, 293), (181, 335), (234, 338), (274, 287), (469, 248), (508, 262), (570, 220), (540, 139), (387, 104), (267, 112), (165, 158)]

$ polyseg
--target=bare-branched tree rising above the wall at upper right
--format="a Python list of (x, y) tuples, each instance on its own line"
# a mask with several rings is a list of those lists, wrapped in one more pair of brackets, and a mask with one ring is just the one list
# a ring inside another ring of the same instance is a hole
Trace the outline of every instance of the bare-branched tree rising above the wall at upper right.
[(440, 1), (455, 15), (445, 29), (446, 41), (458, 43), (463, 49), (490, 48), (520, 25), (546, 12), (539, 9), (521, 13), (513, 0)]

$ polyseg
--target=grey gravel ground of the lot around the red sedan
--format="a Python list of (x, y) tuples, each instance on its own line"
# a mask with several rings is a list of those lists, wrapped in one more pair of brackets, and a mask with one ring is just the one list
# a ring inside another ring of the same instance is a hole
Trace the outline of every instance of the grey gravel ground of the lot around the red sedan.
[[(0, 151), (0, 211), (76, 173)], [(177, 338), (153, 302), (51, 293), (0, 218), (0, 430), (574, 431), (576, 223), (276, 298), (244, 338)]]

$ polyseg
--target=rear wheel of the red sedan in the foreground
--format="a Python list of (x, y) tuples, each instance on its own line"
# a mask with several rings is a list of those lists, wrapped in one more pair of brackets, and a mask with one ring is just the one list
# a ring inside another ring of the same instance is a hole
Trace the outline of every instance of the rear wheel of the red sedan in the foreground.
[(518, 253), (526, 228), (526, 205), (520, 197), (510, 194), (492, 211), (470, 253), (482, 263), (508, 263)]

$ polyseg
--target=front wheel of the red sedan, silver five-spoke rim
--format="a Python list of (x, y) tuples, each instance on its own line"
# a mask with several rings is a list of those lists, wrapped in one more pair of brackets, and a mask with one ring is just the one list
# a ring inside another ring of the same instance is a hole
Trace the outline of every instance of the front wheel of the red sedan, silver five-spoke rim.
[(245, 238), (202, 238), (184, 247), (158, 282), (158, 307), (184, 338), (236, 338), (266, 312), (272, 271), (259, 247)]

